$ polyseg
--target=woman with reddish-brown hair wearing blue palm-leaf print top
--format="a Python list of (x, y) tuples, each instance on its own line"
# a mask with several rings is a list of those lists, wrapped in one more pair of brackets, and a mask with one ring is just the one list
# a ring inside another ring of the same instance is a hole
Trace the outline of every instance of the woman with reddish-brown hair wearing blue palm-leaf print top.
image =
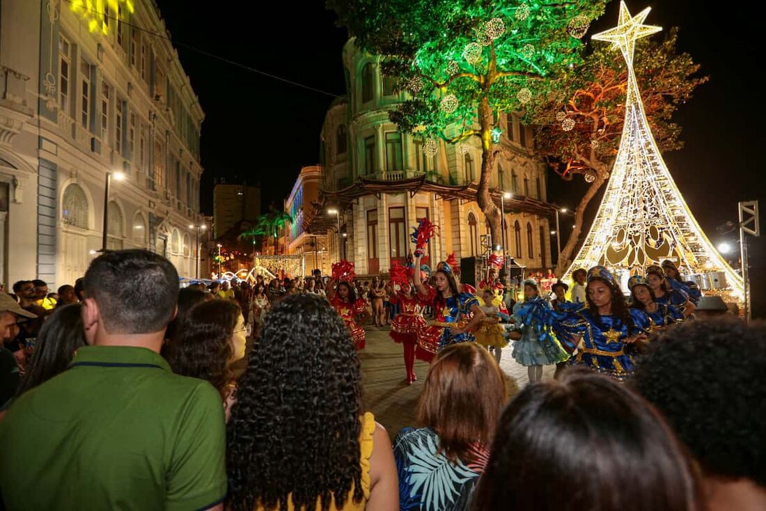
[(489, 352), (473, 342), (437, 353), (417, 421), (394, 440), (400, 509), (467, 509), (484, 471), (506, 385)]

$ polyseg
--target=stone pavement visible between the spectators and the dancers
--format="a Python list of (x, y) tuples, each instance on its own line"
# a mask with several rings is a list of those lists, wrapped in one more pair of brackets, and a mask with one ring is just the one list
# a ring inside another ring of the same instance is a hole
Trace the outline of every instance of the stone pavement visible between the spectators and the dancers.
[[(359, 352), (364, 381), (364, 409), (372, 411), (375, 419), (385, 426), (393, 438), (402, 427), (415, 425), (417, 400), (428, 371), (425, 362), (415, 362), (417, 382), (407, 385), (401, 345), (388, 336), (388, 327), (367, 326), (367, 346)], [(502, 350), (500, 368), (506, 375), (509, 398), (529, 382), (527, 369), (511, 356), (509, 346)], [(542, 377), (553, 378), (554, 365), (545, 366)]]

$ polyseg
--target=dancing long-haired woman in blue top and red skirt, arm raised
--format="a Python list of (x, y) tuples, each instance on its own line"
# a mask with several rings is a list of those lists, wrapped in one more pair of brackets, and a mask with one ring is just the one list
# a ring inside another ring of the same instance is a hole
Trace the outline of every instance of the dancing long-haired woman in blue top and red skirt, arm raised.
[[(421, 267), (422, 254), (415, 254), (414, 267)], [(452, 267), (439, 263), (434, 272), (434, 287), (424, 285), (421, 272), (414, 272), (412, 282), (420, 300), (434, 307), (434, 324), (417, 336), (417, 358), (430, 362), (434, 355), (456, 342), (475, 342), (473, 329), (479, 326), (484, 313), (479, 299), (471, 293), (460, 293)]]

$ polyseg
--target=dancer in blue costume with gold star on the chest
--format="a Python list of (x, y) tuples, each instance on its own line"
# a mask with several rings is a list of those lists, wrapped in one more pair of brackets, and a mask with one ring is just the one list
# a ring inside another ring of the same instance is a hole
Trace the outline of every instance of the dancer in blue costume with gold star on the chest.
[[(586, 306), (564, 304), (554, 311), (536, 303), (525, 305), (520, 316), (544, 325), (543, 335), (555, 333), (568, 351), (577, 349), (572, 365), (584, 365), (617, 379), (633, 372), (634, 342), (647, 340), (651, 326), (641, 310), (629, 309), (620, 287), (603, 266), (588, 270)], [(528, 320), (528, 321), (529, 321)]]

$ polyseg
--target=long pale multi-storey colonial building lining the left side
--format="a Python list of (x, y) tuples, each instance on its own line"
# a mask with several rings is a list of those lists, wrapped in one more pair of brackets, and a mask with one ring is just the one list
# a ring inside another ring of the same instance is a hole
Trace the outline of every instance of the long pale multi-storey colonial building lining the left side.
[(148, 248), (193, 276), (198, 98), (153, 0), (78, 5), (2, 2), (0, 278), (74, 283), (105, 209), (108, 248)]

